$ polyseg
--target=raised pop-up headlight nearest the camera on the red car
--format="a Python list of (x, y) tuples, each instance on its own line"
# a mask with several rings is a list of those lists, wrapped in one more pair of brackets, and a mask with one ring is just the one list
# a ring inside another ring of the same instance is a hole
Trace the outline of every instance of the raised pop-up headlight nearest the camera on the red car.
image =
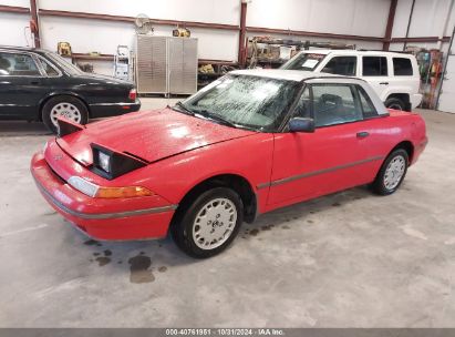
[(91, 146), (93, 153), (92, 171), (107, 180), (113, 180), (148, 164), (147, 161), (127, 153), (116, 152), (93, 143)]

